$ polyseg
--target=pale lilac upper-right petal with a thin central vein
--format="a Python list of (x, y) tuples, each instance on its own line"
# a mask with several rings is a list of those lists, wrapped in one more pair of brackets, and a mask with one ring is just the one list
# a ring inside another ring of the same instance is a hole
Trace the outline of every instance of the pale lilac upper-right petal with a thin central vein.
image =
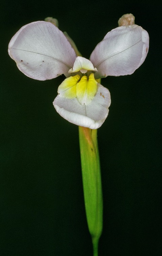
[(98, 70), (95, 79), (132, 74), (144, 62), (148, 47), (148, 33), (140, 26), (111, 30), (90, 55), (90, 61)]

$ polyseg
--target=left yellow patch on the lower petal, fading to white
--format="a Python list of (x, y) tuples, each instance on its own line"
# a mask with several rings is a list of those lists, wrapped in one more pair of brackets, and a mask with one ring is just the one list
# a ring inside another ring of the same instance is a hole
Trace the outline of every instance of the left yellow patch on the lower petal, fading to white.
[(70, 76), (66, 78), (58, 87), (58, 94), (60, 94), (62, 98), (76, 98), (76, 86), (79, 80), (80, 75)]

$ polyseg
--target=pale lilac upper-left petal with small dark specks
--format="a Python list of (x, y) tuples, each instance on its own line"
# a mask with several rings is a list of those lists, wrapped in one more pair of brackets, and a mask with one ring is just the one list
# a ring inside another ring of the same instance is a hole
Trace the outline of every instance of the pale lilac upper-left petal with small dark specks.
[(25, 75), (47, 80), (68, 71), (76, 53), (64, 34), (53, 24), (36, 21), (23, 26), (12, 37), (8, 53)]

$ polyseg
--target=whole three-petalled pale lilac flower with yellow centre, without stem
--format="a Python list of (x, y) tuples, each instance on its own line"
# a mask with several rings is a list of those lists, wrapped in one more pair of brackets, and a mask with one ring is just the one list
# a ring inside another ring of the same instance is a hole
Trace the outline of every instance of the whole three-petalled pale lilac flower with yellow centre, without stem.
[(8, 53), (25, 75), (46, 80), (61, 74), (53, 105), (74, 124), (99, 128), (108, 116), (110, 92), (100, 78), (132, 74), (145, 60), (149, 45), (147, 31), (137, 25), (120, 26), (106, 34), (87, 60), (55, 25), (37, 21), (23, 26), (12, 37)]

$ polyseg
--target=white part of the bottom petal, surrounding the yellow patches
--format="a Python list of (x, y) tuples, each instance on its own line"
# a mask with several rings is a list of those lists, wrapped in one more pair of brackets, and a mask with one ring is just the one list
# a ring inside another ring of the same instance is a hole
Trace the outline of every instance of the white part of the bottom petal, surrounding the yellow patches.
[(56, 111), (66, 120), (76, 125), (98, 129), (108, 116), (111, 103), (110, 92), (98, 84), (98, 90), (88, 105), (81, 105), (77, 98), (62, 98), (59, 94), (54, 99)]

